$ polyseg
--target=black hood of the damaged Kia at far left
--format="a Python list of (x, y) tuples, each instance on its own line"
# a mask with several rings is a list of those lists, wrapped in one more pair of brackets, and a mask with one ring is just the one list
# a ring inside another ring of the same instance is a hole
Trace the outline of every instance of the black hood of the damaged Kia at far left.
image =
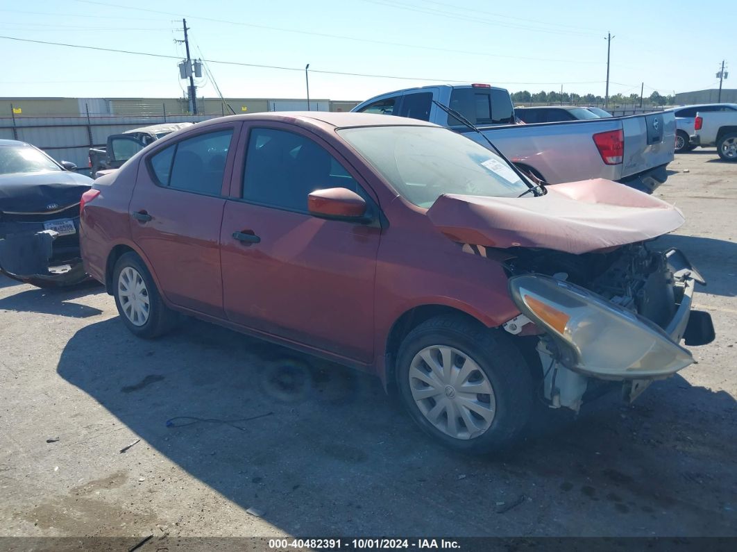
[(47, 171), (0, 175), (0, 212), (43, 213), (79, 203), (93, 180), (76, 172)]

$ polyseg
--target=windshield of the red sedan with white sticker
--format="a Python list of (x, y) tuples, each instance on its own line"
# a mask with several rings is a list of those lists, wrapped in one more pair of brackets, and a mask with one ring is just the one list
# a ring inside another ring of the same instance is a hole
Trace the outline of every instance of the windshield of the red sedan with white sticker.
[(502, 158), (445, 128), (359, 127), (338, 133), (419, 207), (429, 208), (443, 194), (516, 198), (529, 189)]

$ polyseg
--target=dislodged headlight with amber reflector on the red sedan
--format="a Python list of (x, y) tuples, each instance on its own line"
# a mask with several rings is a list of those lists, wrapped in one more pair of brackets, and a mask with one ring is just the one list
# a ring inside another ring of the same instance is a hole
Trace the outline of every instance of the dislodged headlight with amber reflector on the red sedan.
[(569, 282), (548, 276), (509, 279), (517, 307), (562, 344), (562, 363), (596, 377), (647, 378), (674, 374), (691, 353), (640, 315)]

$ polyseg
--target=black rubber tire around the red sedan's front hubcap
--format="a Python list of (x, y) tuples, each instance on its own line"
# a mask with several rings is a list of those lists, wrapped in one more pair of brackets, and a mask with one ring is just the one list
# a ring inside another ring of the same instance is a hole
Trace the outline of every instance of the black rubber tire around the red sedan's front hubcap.
[[(495, 414), (479, 436), (452, 437), (430, 423), (416, 405), (409, 375), (411, 363), (422, 349), (436, 344), (466, 354), (492, 385)], [(489, 453), (509, 446), (523, 435), (533, 412), (534, 385), (520, 350), (501, 330), (488, 329), (463, 315), (430, 318), (413, 329), (399, 347), (396, 374), (399, 396), (412, 419), (445, 446), (465, 453)]]

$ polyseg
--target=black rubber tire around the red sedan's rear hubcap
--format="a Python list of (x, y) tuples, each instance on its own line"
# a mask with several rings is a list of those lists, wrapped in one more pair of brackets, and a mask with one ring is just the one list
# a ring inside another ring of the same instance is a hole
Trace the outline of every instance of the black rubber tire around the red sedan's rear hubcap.
[[(148, 318), (145, 323), (140, 326), (133, 324), (133, 322), (128, 318), (128, 315), (125, 314), (121, 304), (121, 298), (119, 296), (120, 273), (128, 267), (133, 268), (141, 275), (146, 286), (149, 301)], [(177, 314), (164, 304), (164, 301), (161, 299), (161, 294), (158, 293), (156, 284), (153, 282), (151, 273), (137, 254), (129, 251), (128, 253), (120, 256), (118, 261), (115, 263), (115, 268), (113, 269), (112, 287), (115, 306), (118, 308), (120, 319), (130, 332), (133, 333), (133, 335), (144, 339), (158, 338), (160, 335), (164, 335), (169, 332), (170, 329), (175, 326), (178, 319)]]

